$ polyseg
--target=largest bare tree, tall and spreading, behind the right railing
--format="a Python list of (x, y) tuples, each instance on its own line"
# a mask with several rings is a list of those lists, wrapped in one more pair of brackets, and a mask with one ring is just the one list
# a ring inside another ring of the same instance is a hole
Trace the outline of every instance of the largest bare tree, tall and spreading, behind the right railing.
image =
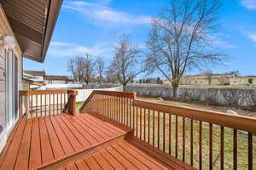
[(171, 0), (152, 20), (146, 64), (172, 82), (173, 98), (186, 71), (223, 59), (211, 47), (219, 7), (219, 0)]

